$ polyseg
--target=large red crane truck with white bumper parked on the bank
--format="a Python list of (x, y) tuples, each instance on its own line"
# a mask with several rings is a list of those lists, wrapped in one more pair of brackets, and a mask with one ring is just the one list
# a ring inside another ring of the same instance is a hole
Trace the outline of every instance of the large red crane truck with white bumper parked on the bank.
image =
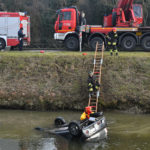
[(118, 45), (124, 50), (141, 46), (150, 51), (150, 27), (143, 26), (143, 8), (134, 0), (118, 0), (116, 8), (104, 16), (104, 24), (86, 25), (82, 12), (76, 7), (58, 10), (54, 39), (63, 41), (69, 50), (82, 48), (84, 43), (95, 50), (96, 43), (106, 42), (106, 34), (114, 28), (119, 35)]

